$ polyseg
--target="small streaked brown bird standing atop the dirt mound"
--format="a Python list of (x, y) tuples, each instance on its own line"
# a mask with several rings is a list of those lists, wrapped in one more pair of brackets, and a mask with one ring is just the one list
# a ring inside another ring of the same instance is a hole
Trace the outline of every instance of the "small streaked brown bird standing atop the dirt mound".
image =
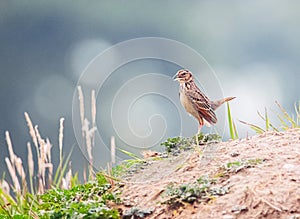
[(197, 87), (193, 80), (193, 74), (187, 69), (179, 70), (175, 75), (175, 81), (180, 84), (179, 97), (185, 110), (194, 116), (198, 122), (198, 133), (203, 125), (211, 126), (217, 123), (215, 110), (223, 103), (234, 99), (227, 97), (217, 101), (211, 101)]

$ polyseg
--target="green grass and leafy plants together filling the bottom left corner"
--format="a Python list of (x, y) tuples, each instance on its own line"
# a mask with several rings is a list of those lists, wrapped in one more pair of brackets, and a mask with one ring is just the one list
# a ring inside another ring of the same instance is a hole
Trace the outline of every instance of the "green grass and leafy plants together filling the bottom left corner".
[(53, 187), (42, 195), (10, 195), (0, 189), (0, 218), (119, 218), (107, 201), (119, 203), (103, 174), (94, 181), (75, 185), (70, 190)]

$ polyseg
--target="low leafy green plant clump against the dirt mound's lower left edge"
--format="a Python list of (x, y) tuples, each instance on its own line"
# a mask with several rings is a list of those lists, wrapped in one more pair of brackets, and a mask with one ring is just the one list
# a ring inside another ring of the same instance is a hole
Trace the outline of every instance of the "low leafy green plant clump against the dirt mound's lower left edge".
[(119, 218), (107, 201), (119, 202), (117, 194), (102, 174), (95, 181), (70, 190), (53, 188), (40, 195), (39, 216), (42, 218)]

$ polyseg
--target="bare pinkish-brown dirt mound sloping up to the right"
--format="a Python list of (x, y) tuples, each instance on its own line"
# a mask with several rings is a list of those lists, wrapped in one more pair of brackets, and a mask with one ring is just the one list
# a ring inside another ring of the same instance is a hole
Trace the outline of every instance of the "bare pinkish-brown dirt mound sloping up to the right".
[[(250, 160), (259, 162), (224, 169)], [(168, 186), (193, 183), (204, 175), (228, 192), (209, 201), (166, 203)], [(122, 211), (148, 211), (132, 218), (300, 218), (300, 129), (200, 146), (151, 161), (127, 181)]]

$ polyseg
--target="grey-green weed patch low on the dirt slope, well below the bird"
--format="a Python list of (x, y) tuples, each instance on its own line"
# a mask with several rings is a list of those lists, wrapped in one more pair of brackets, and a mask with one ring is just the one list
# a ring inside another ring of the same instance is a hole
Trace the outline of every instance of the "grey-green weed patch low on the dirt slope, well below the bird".
[(202, 176), (191, 184), (168, 186), (163, 194), (168, 197), (164, 203), (173, 205), (181, 202), (208, 202), (229, 192), (227, 187), (217, 187), (215, 184), (215, 179)]

